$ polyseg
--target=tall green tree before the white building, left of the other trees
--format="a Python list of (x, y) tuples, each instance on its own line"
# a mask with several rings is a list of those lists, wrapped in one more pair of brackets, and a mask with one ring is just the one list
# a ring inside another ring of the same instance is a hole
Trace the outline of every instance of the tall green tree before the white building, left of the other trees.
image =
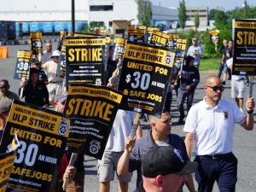
[(137, 19), (143, 26), (150, 26), (152, 19), (151, 3), (144, 0), (135, 0), (137, 3)]

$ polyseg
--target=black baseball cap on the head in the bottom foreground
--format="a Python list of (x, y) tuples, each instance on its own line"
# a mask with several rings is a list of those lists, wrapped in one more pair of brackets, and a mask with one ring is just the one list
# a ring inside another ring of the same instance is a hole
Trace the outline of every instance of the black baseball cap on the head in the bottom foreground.
[(188, 175), (195, 172), (197, 166), (197, 162), (183, 160), (178, 149), (162, 146), (150, 149), (144, 156), (143, 176), (156, 177), (171, 173)]

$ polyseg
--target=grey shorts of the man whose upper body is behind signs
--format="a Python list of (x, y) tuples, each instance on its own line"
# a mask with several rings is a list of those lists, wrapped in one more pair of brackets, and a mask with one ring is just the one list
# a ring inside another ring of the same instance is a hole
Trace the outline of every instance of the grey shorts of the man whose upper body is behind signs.
[[(105, 151), (102, 160), (98, 160), (98, 176), (100, 182), (108, 182), (112, 181), (114, 177), (114, 173), (116, 173), (117, 170), (117, 164), (119, 162), (119, 159), (122, 152), (111, 152), (111, 151)], [(116, 173), (119, 181), (129, 183), (131, 182), (131, 172), (129, 172), (125, 176), (119, 176)]]

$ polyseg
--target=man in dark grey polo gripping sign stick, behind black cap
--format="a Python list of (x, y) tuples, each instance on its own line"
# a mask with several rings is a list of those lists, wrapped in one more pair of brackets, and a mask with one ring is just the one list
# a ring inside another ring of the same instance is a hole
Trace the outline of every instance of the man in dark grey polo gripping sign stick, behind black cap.
[[(125, 141), (125, 152), (119, 159), (117, 172), (119, 175), (125, 175), (128, 172), (137, 170), (137, 186), (143, 180), (142, 178), (142, 160), (150, 148), (157, 148), (158, 146), (170, 146), (177, 148), (181, 152), (183, 160), (189, 160), (183, 142), (183, 139), (175, 134), (171, 134), (172, 120), (170, 114), (163, 110), (161, 118), (148, 116), (152, 129), (148, 132), (148, 136), (136, 139), (128, 137)], [(132, 150), (131, 150), (132, 148)], [(188, 181), (185, 182), (189, 191), (195, 191), (192, 176), (188, 175)]]

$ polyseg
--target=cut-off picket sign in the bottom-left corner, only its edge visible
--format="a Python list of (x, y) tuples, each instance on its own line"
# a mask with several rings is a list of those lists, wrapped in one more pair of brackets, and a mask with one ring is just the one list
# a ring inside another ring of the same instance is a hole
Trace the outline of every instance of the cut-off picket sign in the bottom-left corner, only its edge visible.
[(11, 146), (9, 151), (0, 154), (0, 191), (6, 191), (12, 166), (15, 163), (17, 148), (20, 145), (16, 136), (9, 145)]

